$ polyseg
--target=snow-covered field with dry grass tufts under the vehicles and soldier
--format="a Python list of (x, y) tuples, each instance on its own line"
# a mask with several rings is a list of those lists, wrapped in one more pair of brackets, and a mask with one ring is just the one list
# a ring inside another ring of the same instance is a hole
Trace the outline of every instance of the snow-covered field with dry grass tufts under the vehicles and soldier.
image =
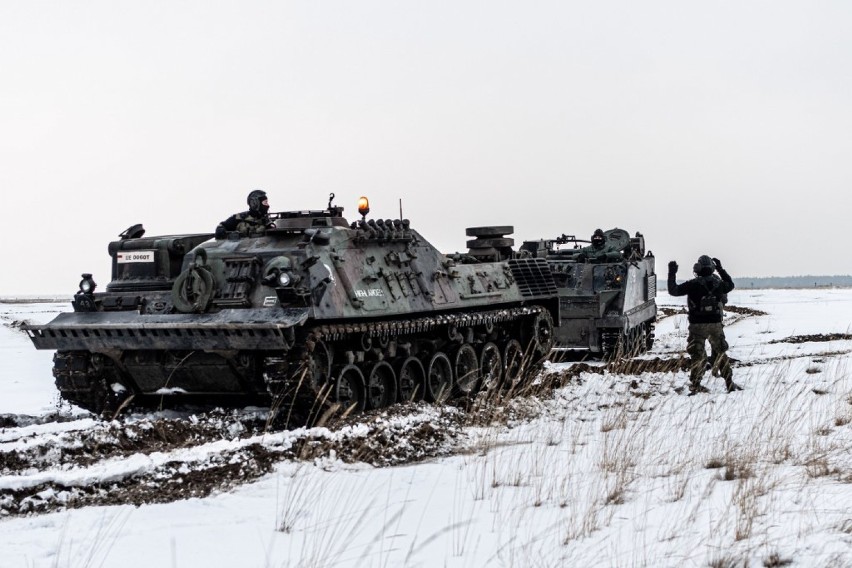
[[(644, 359), (681, 357), (679, 300), (660, 296)], [(0, 567), (852, 567), (852, 290), (730, 305), (742, 392), (560, 363), (565, 386), (493, 421), (420, 405), (251, 433), (245, 416), (178, 416), (198, 430), (170, 438), (160, 417), (57, 419), (52, 353), (16, 324), (68, 304), (0, 303)], [(152, 429), (159, 445), (141, 443)], [(415, 430), (428, 457), (388, 434)], [(376, 432), (380, 450), (352, 451)], [(181, 493), (199, 464), (229, 482)]]

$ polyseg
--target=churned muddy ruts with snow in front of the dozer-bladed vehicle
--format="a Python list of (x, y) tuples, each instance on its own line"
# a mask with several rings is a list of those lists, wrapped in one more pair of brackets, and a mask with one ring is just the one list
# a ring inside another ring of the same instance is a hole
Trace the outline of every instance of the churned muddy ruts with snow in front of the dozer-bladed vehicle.
[[(80, 419), (0, 429), (0, 517), (170, 502), (227, 491), (283, 460), (396, 465), (452, 451), (462, 414), (404, 405), (329, 427), (275, 429), (264, 412)], [(6, 417), (6, 422), (27, 422)]]

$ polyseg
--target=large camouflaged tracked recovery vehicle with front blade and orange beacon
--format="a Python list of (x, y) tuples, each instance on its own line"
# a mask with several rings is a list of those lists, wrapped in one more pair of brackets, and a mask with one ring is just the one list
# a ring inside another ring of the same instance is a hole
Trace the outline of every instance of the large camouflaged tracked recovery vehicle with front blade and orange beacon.
[(494, 249), (488, 227), (468, 234), (489, 246), (444, 255), (408, 220), (359, 212), (350, 223), (329, 200), (273, 213), (250, 238), (135, 225), (109, 245), (106, 291), (84, 274), (73, 312), (25, 330), (57, 350), (61, 396), (95, 413), (441, 401), (516, 381), (525, 357), (549, 352), (559, 303), (545, 258)]

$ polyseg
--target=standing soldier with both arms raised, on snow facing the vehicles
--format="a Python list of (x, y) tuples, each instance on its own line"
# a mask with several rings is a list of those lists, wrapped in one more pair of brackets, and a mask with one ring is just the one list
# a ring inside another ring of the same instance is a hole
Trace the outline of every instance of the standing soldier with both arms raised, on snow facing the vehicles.
[[(725, 330), (722, 325), (723, 299), (734, 289), (734, 281), (722, 268), (718, 258), (707, 255), (698, 257), (698, 262), (692, 267), (695, 278), (678, 284), (677, 262), (669, 262), (668, 287), (672, 296), (686, 296), (689, 313), (689, 337), (686, 340), (686, 352), (689, 353), (689, 391), (690, 394), (708, 392), (701, 385), (707, 366), (707, 351), (705, 342), (710, 342), (713, 352), (714, 371), (725, 378), (728, 392), (742, 390), (733, 380), (734, 372), (731, 362), (725, 353), (728, 342), (725, 341)], [(713, 274), (718, 271), (719, 275)], [(714, 372), (715, 374), (715, 372)]]

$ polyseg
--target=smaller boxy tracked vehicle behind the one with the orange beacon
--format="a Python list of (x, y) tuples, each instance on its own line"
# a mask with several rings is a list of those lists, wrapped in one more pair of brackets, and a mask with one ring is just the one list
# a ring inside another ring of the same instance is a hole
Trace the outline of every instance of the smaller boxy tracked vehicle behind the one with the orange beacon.
[(559, 293), (561, 323), (555, 349), (613, 357), (647, 351), (654, 341), (657, 276), (645, 238), (603, 231), (599, 246), (573, 235), (526, 241), (521, 251), (544, 259)]

